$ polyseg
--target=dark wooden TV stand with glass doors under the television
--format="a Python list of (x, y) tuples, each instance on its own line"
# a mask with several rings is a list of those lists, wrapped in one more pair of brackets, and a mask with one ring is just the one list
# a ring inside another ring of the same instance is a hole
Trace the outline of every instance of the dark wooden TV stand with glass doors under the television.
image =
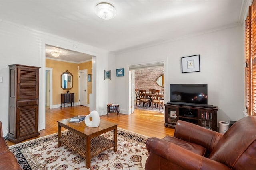
[(183, 120), (217, 131), (217, 106), (212, 108), (172, 104), (164, 104), (164, 106), (165, 127), (175, 127), (178, 120)]

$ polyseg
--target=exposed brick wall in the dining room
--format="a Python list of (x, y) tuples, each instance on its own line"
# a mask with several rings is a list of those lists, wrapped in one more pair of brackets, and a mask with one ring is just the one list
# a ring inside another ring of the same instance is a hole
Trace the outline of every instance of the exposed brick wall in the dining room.
[(164, 75), (164, 67), (135, 70), (135, 89), (164, 89), (156, 84), (156, 78)]

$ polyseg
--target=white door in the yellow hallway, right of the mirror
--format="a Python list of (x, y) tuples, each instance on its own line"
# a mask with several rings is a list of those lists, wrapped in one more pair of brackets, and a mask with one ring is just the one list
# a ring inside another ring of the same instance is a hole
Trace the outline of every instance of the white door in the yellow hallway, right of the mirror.
[(87, 70), (79, 71), (79, 104), (87, 106)]

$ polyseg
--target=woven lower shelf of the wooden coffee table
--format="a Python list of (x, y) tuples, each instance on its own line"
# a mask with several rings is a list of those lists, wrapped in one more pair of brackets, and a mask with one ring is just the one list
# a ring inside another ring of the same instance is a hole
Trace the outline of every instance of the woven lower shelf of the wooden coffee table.
[[(72, 149), (74, 152), (77, 152), (84, 158), (86, 158), (86, 139), (70, 132), (68, 135), (62, 135), (59, 141), (63, 144)], [(93, 156), (98, 155), (99, 153), (107, 150), (111, 147), (114, 147), (114, 141), (107, 139), (102, 136), (96, 136), (91, 139), (91, 153), (90, 158)]]

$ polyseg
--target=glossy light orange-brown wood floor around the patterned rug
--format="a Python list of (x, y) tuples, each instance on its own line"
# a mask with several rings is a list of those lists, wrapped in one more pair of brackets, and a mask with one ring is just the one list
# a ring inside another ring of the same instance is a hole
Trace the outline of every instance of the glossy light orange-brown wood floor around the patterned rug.
[[(46, 109), (46, 129), (39, 131), (40, 136), (43, 137), (52, 133), (57, 133), (57, 120), (67, 119), (75, 115), (88, 115), (90, 113), (89, 107), (86, 106), (74, 106), (56, 109)], [(164, 114), (157, 113), (155, 111), (147, 111), (142, 109), (135, 109), (132, 115), (125, 115), (120, 113), (120, 116), (116, 113), (110, 113), (100, 116), (101, 119), (118, 123), (118, 127), (138, 133), (147, 137), (163, 138), (166, 135), (173, 136), (174, 129), (171, 127), (164, 127)], [(62, 128), (64, 130), (64, 128)], [(36, 139), (38, 137), (30, 138)], [(24, 142), (21, 141), (20, 143)], [(11, 141), (7, 140), (9, 146), (14, 145)]]

